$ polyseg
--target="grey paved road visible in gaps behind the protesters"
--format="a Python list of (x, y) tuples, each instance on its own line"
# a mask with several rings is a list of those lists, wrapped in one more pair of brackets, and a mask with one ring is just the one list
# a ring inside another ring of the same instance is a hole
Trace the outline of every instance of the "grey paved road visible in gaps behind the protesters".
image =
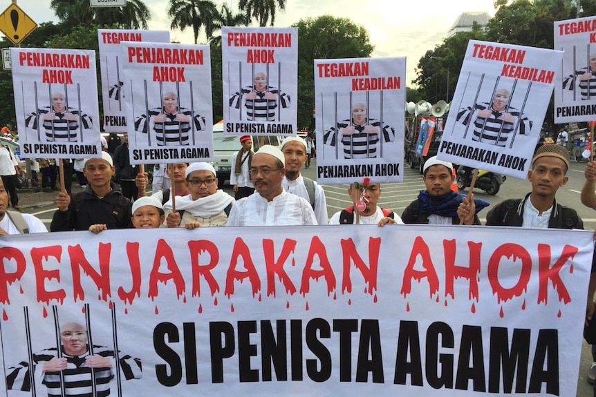
[[(571, 163), (570, 170), (568, 171), (569, 182), (566, 186), (559, 189), (557, 192), (557, 200), (561, 204), (575, 208), (584, 220), (586, 229), (596, 229), (596, 211), (582, 206), (579, 202), (579, 192), (581, 191), (581, 186), (584, 184), (583, 171), (585, 166), (586, 163), (584, 162)], [(304, 170), (304, 175), (315, 179), (315, 170), (316, 159), (311, 162), (310, 168)], [(333, 213), (351, 205), (347, 193), (347, 184), (325, 185), (323, 187), (327, 197), (327, 211), (329, 217), (333, 215)], [(401, 214), (405, 207), (418, 196), (420, 190), (424, 188), (422, 175), (420, 175), (417, 170), (407, 167), (404, 169), (404, 182), (399, 184), (382, 184), (380, 206)], [(228, 193), (231, 192), (230, 186), (225, 186), (224, 190), (228, 191)], [(530, 182), (510, 177), (507, 178), (505, 184), (501, 186), (501, 191), (499, 191), (497, 195), (487, 195), (482, 191), (475, 192), (475, 195), (476, 198), (482, 198), (494, 205), (507, 198), (523, 197), (528, 191), (530, 191)], [(460, 193), (466, 192), (462, 191)], [(49, 228), (54, 211), (54, 206), (45, 206), (36, 209), (32, 213), (43, 220), (44, 224)], [(483, 213), (481, 213), (481, 220), (484, 222)], [(586, 374), (591, 362), (590, 347), (584, 342), (581, 351), (581, 362), (579, 364), (579, 378), (577, 383), (578, 397), (593, 396), (592, 386), (586, 382)]]

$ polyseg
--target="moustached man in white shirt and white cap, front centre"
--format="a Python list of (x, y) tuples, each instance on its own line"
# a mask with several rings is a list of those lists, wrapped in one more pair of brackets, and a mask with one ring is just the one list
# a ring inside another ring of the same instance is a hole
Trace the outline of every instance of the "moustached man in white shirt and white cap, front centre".
[(226, 226), (317, 224), (310, 204), (281, 187), (283, 175), (286, 175), (285, 161), (277, 147), (261, 146), (250, 166), (250, 177), (257, 192), (236, 202)]

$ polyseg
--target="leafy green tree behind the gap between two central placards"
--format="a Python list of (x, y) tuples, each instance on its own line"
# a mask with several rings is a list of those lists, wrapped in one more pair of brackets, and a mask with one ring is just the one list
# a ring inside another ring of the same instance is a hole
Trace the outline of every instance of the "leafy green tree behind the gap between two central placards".
[[(298, 28), (298, 127), (311, 126), (315, 108), (315, 59), (366, 58), (369, 32), (350, 19), (324, 15), (301, 19)], [(292, 99), (294, 100), (294, 99)]]

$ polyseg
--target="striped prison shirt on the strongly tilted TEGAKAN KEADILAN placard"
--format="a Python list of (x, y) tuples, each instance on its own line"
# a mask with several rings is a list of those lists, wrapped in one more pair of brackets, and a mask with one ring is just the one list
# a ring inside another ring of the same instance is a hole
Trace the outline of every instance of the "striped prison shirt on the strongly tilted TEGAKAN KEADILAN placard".
[[(490, 104), (488, 104), (487, 102), (483, 102), (481, 104), (474, 105), (474, 110), (472, 110), (472, 108), (470, 107), (461, 109), (457, 115), (457, 121), (467, 126), (471, 114), (476, 113), (476, 111), (485, 109), (490, 109), (492, 111), (492, 116), (488, 117), (487, 119), (476, 117), (473, 124), (474, 135), (472, 136), (472, 139), (474, 141), (480, 141), (480, 136), (482, 135), (481, 142), (505, 147), (507, 139), (509, 139), (510, 135), (512, 135), (513, 128), (515, 127), (515, 124), (503, 122), (503, 119), (501, 119), (501, 115), (505, 113), (505, 110), (494, 110), (492, 109), (492, 107), (490, 107)], [(521, 119), (519, 119), (517, 133), (521, 135), (529, 135), (530, 130), (532, 130), (532, 122), (530, 121), (530, 119), (528, 119), (528, 117), (523, 117), (523, 115), (520, 115), (519, 110), (513, 108), (512, 106), (510, 106), (508, 113), (510, 113), (514, 117), (521, 117)], [(483, 125), (484, 131), (482, 129)], [(501, 128), (501, 125), (503, 126), (503, 128)], [(501, 135), (499, 135), (499, 131), (501, 131)]]

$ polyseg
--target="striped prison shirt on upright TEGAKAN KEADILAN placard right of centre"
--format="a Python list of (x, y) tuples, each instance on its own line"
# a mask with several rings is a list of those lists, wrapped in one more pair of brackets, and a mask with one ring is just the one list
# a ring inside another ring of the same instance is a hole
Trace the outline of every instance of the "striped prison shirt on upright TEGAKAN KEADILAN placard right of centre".
[[(379, 135), (364, 133), (364, 127), (366, 127), (366, 124), (362, 126), (357, 126), (356, 124), (352, 125), (357, 131), (356, 133), (353, 133), (352, 135), (341, 135), (342, 128), (350, 126), (350, 120), (346, 119), (342, 122), (337, 122), (337, 129), (339, 130), (339, 137), (341, 137), (344, 150), (344, 158), (366, 159), (377, 157)], [(369, 119), (369, 125), (379, 127), (381, 124), (377, 119)], [(384, 124), (383, 139), (384, 142), (393, 142), (393, 139), (395, 139), (395, 129), (388, 126), (387, 124)], [(331, 127), (325, 131), (323, 135), (323, 142), (324, 144), (330, 144), (331, 146), (335, 146), (335, 144), (337, 144), (337, 142), (335, 142), (335, 128)], [(366, 152), (367, 144), (368, 153)]]

